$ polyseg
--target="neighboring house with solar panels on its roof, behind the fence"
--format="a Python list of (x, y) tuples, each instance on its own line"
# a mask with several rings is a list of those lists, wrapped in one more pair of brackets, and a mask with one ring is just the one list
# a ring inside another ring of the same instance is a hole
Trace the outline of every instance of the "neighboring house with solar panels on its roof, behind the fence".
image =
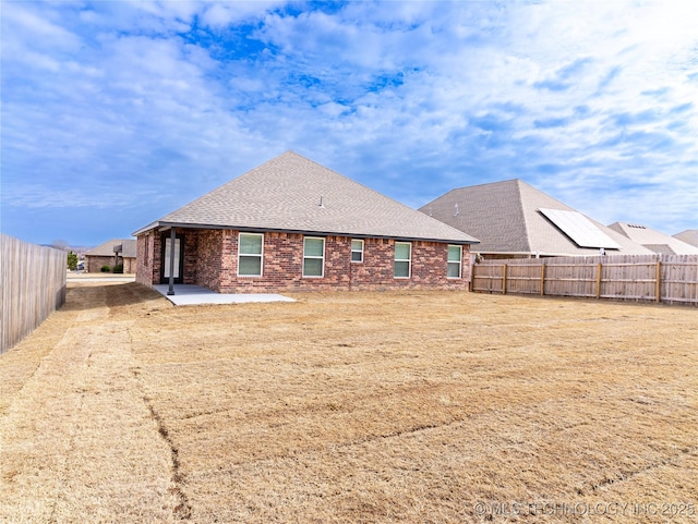
[(651, 255), (628, 237), (515, 179), (453, 190), (420, 208), (478, 237), (484, 258)]

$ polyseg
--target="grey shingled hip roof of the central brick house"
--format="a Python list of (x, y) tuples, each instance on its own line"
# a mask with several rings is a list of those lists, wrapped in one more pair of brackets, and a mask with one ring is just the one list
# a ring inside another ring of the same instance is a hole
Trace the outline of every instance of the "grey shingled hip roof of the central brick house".
[(133, 234), (163, 227), (478, 242), (293, 151), (248, 171)]

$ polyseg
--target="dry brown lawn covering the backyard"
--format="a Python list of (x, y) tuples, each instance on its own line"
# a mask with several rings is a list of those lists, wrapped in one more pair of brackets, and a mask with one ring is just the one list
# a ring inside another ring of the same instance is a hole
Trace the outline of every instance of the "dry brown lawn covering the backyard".
[(698, 309), (71, 283), (0, 356), (0, 522), (698, 522)]

